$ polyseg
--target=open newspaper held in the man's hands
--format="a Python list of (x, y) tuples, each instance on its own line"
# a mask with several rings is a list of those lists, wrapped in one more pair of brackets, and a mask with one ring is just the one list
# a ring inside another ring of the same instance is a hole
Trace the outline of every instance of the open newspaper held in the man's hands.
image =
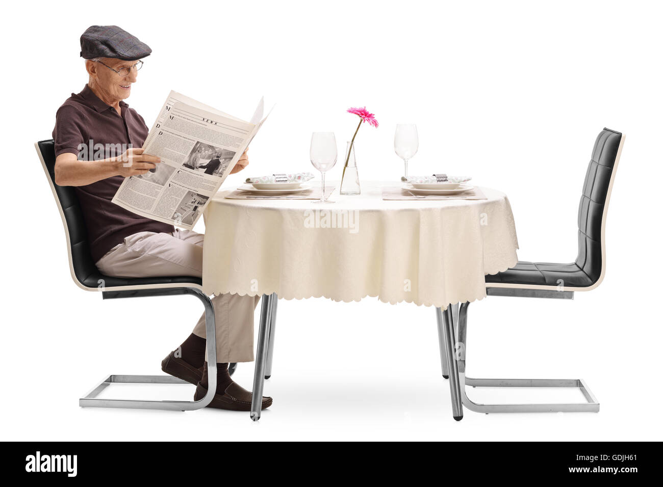
[(192, 229), (267, 119), (263, 109), (261, 99), (251, 121), (245, 122), (170, 91), (143, 144), (160, 164), (147, 174), (125, 178), (113, 203)]

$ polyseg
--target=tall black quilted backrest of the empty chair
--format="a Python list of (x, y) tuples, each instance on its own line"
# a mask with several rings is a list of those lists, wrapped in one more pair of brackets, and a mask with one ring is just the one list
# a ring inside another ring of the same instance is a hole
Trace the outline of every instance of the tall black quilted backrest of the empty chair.
[(591, 153), (578, 210), (578, 256), (575, 263), (598, 286), (605, 274), (605, 220), (624, 136), (603, 129)]

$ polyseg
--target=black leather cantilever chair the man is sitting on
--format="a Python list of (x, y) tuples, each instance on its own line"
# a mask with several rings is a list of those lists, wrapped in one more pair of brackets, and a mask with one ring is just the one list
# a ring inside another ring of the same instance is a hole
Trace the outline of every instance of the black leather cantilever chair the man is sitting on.
[[(171, 296), (175, 294), (192, 294), (202, 301), (205, 307), (206, 333), (208, 337), (208, 356), (216, 356), (216, 333), (214, 328), (214, 308), (210, 298), (202, 292), (202, 280), (188, 276), (127, 279), (105, 276), (95, 266), (88, 243), (85, 221), (78, 203), (76, 191), (71, 186), (55, 184), (55, 149), (53, 140), (41, 140), (35, 144), (41, 160), (46, 179), (53, 192), (55, 201), (62, 217), (64, 233), (67, 239), (69, 267), (76, 285), (86, 291), (101, 292), (103, 299), (134, 298), (139, 296)], [(236, 364), (231, 364), (236, 365)], [(234, 370), (234, 367), (231, 368)], [(204, 398), (199, 401), (140, 401), (97, 398), (101, 390), (109, 384), (186, 384), (172, 376), (137, 376), (111, 375), (105, 378), (86, 396), (80, 398), (82, 407), (120, 407), (131, 409), (169, 409), (187, 411), (200, 409), (210, 404), (216, 388), (216, 363), (209, 362), (210, 388)]]

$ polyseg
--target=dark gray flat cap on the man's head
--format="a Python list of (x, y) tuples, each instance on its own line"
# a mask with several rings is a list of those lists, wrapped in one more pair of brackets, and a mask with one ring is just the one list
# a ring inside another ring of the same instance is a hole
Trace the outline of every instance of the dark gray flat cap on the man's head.
[(81, 36), (81, 57), (135, 61), (151, 54), (150, 46), (117, 25), (93, 25)]

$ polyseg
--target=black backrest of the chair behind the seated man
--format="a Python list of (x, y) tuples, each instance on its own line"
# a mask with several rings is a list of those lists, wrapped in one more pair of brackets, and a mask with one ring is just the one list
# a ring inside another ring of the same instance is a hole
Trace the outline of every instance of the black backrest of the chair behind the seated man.
[(72, 186), (55, 184), (55, 143), (51, 140), (40, 140), (35, 144), (39, 158), (46, 172), (48, 183), (53, 191), (58, 209), (64, 223), (69, 250), (69, 264), (72, 278), (84, 289), (97, 288), (97, 280), (101, 274), (97, 270), (90, 254), (88, 231), (78, 203), (76, 190)]

